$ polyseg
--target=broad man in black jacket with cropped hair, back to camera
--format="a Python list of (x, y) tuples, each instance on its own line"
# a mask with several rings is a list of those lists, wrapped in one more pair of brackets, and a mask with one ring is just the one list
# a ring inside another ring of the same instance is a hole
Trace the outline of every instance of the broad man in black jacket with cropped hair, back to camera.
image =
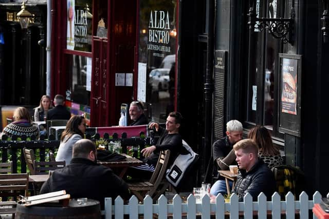
[(71, 198), (87, 197), (98, 200), (104, 209), (104, 198), (115, 199), (120, 195), (130, 198), (126, 183), (115, 175), (111, 169), (98, 165), (95, 144), (81, 139), (73, 146), (72, 160), (63, 169), (52, 172), (42, 185), (40, 193), (66, 190)]

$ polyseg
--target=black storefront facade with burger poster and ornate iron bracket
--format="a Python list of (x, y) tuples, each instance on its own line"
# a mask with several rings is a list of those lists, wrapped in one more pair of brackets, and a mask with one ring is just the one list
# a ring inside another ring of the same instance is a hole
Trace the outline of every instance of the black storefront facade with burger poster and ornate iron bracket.
[(215, 4), (212, 140), (231, 119), (243, 123), (245, 134), (263, 125), (286, 163), (304, 171), (305, 191), (325, 194), (327, 1)]

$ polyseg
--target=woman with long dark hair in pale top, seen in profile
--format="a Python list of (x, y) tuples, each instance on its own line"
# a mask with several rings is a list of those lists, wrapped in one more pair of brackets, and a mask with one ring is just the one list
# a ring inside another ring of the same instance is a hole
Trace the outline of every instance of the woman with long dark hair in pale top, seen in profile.
[(85, 131), (86, 121), (84, 117), (78, 115), (72, 116), (66, 124), (66, 129), (62, 133), (56, 161), (65, 161), (66, 165), (70, 164), (73, 145), (84, 137)]

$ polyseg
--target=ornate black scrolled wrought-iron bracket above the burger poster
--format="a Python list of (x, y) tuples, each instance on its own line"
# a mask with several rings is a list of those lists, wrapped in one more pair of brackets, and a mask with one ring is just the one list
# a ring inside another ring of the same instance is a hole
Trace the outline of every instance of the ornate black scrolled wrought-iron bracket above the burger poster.
[(267, 29), (273, 37), (281, 39), (286, 44), (294, 43), (293, 32), (295, 22), (295, 9), (291, 7), (291, 13), (289, 18), (268, 18), (268, 17), (257, 17), (255, 13), (254, 0), (249, 1), (249, 30), (254, 31), (257, 28), (260, 32)]

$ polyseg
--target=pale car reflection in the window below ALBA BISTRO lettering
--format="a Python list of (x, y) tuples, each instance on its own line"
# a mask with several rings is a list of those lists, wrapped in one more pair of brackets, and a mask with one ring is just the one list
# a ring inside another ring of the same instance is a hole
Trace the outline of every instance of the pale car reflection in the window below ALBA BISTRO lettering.
[(152, 90), (167, 91), (169, 88), (169, 72), (168, 68), (153, 69), (149, 74), (149, 84)]

